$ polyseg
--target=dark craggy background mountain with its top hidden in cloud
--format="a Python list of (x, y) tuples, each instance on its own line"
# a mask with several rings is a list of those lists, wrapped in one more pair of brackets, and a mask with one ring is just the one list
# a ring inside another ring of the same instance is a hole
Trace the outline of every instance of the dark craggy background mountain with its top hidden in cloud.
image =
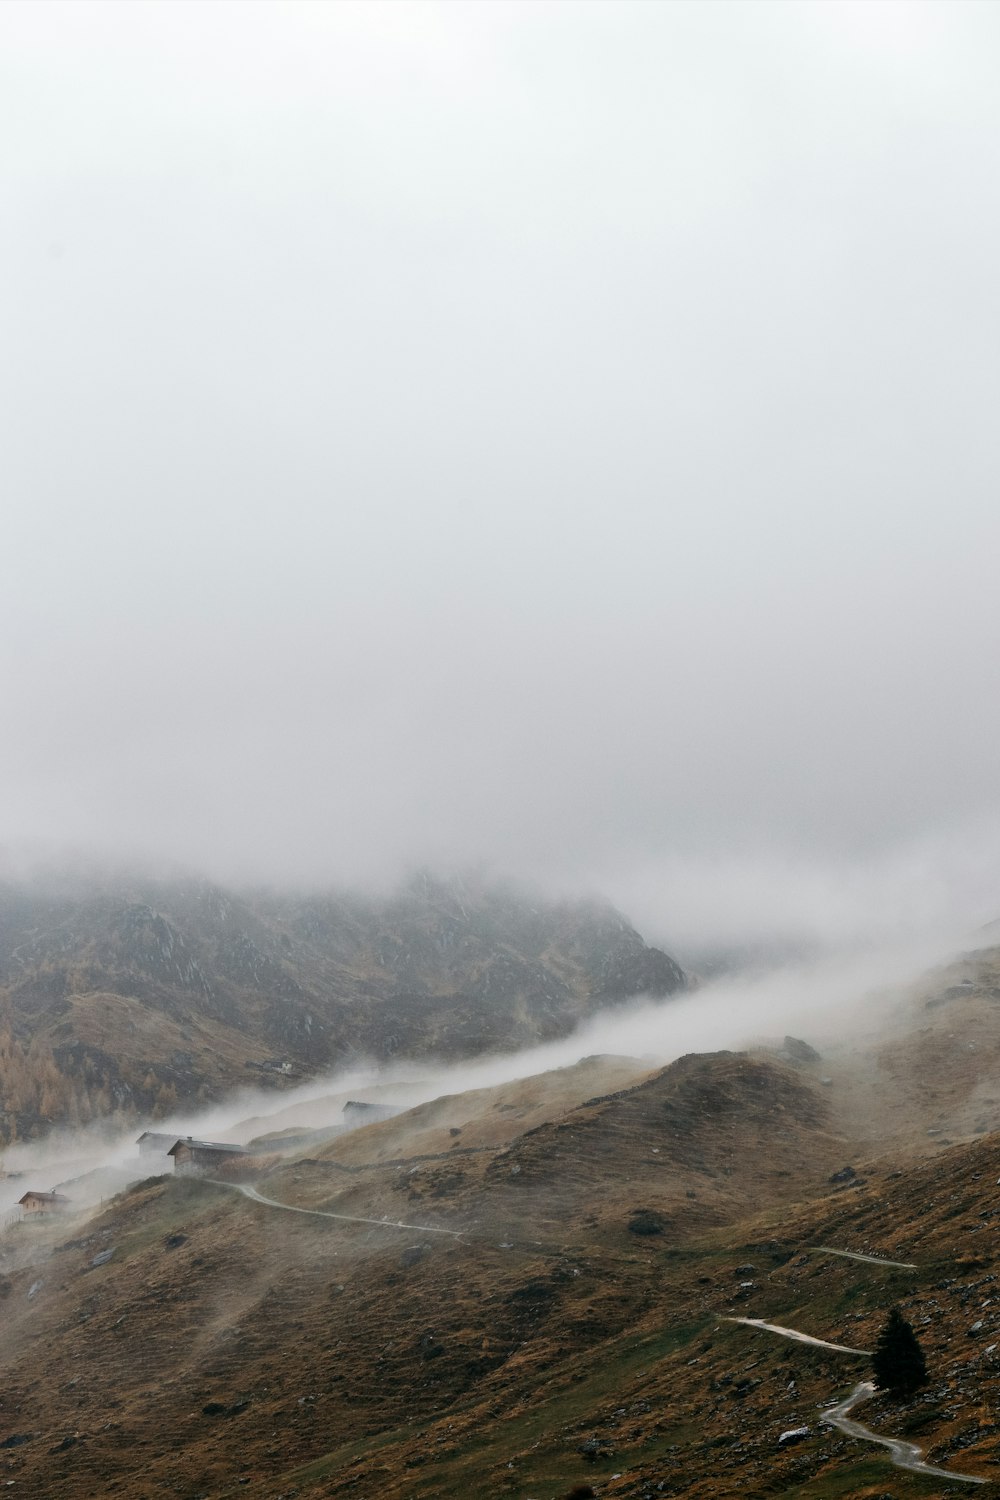
[(0, 888), (0, 986), (9, 1136), (360, 1056), (516, 1048), (685, 976), (607, 904), (421, 874), (385, 898)]

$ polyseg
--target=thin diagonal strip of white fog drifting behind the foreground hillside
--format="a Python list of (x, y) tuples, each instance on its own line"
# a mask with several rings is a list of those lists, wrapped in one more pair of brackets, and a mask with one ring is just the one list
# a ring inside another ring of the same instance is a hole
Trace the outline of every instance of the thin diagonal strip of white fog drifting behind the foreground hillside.
[[(208, 1110), (178, 1112), (166, 1120), (135, 1120), (124, 1131), (111, 1120), (54, 1130), (40, 1142), (18, 1142), (3, 1152), (3, 1168), (16, 1176), (0, 1178), (0, 1215), (28, 1188), (58, 1186), (73, 1208), (91, 1208), (130, 1180), (172, 1172), (172, 1162), (162, 1155), (139, 1158), (136, 1138), (142, 1130), (247, 1144), (289, 1126), (342, 1125), (343, 1104), (351, 1098), (405, 1110), (444, 1095), (571, 1068), (600, 1054), (634, 1059), (637, 1082), (691, 1052), (780, 1047), (786, 1034), (823, 1048), (825, 1054), (870, 1050), (891, 1034), (900, 1035), (900, 1017), (909, 1016), (913, 1005), (913, 984), (928, 966), (948, 962), (963, 936), (967, 934), (952, 933), (951, 950), (931, 940), (870, 946), (768, 974), (717, 980), (669, 1000), (639, 999), (598, 1012), (570, 1036), (520, 1052), (448, 1064), (400, 1059), (381, 1066), (355, 1065), (277, 1095), (237, 1089)], [(541, 1080), (540, 1096), (544, 1095)], [(256, 1149), (267, 1155), (274, 1148)], [(297, 1148), (300, 1155), (316, 1149)]]

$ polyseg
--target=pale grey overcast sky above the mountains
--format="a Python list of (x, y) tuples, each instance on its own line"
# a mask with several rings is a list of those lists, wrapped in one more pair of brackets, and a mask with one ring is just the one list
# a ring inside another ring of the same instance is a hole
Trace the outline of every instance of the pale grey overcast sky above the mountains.
[(7, 0), (7, 846), (1000, 915), (999, 64), (963, 0)]

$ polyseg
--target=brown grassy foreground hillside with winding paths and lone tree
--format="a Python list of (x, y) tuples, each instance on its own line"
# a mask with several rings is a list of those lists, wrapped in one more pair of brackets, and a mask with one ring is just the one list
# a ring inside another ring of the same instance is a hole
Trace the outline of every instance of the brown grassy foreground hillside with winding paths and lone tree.
[(735, 1322), (868, 1350), (898, 1304), (930, 1384), (858, 1414), (993, 1492), (1000, 1132), (931, 1124), (982, 1107), (981, 1065), (937, 1095), (910, 1072), (874, 1150), (856, 1104), (877, 1076), (898, 1102), (900, 1059), (952, 1005), (972, 1026), (976, 987), (984, 1041), (999, 957), (928, 980), (855, 1086), (850, 1048), (634, 1082), (586, 1059), (292, 1152), (256, 1200), (168, 1176), (9, 1230), (0, 1476), (40, 1500), (942, 1496), (823, 1425), (864, 1354)]

